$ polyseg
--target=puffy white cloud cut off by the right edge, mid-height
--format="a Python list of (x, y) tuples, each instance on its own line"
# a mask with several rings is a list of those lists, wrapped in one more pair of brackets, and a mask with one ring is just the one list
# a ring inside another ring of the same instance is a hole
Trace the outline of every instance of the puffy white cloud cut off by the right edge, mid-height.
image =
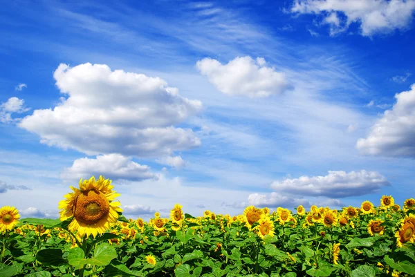
[(371, 127), (356, 148), (363, 154), (415, 157), (415, 84), (395, 95), (396, 104)]

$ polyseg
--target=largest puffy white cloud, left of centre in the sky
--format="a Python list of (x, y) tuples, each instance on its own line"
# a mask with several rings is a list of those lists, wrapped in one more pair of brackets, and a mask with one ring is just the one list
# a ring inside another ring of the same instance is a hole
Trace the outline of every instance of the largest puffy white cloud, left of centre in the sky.
[(201, 111), (201, 102), (181, 97), (163, 79), (104, 64), (60, 64), (53, 77), (67, 98), (19, 124), (44, 144), (86, 155), (136, 157), (171, 155), (201, 144), (191, 129), (174, 127)]

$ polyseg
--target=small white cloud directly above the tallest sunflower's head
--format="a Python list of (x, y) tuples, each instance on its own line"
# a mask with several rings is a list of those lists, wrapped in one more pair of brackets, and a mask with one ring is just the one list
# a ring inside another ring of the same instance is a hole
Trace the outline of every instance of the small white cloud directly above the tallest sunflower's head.
[(131, 157), (120, 154), (99, 155), (96, 159), (83, 157), (75, 160), (71, 167), (61, 173), (63, 180), (89, 179), (103, 175), (111, 180), (142, 181), (158, 179), (158, 175), (151, 173), (149, 166), (132, 161)]

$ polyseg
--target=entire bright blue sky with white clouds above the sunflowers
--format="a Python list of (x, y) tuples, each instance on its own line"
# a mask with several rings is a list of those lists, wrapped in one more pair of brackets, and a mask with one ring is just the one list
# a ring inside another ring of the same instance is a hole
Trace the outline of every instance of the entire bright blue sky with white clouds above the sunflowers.
[(102, 174), (176, 203), (414, 197), (415, 1), (13, 1), (0, 10), (0, 203), (57, 217)]

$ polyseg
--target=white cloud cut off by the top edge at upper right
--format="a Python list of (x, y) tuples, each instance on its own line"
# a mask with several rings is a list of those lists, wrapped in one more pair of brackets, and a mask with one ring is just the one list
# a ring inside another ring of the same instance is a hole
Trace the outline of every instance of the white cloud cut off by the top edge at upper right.
[(291, 12), (322, 15), (330, 34), (360, 23), (363, 36), (405, 30), (412, 21), (415, 0), (295, 0)]

